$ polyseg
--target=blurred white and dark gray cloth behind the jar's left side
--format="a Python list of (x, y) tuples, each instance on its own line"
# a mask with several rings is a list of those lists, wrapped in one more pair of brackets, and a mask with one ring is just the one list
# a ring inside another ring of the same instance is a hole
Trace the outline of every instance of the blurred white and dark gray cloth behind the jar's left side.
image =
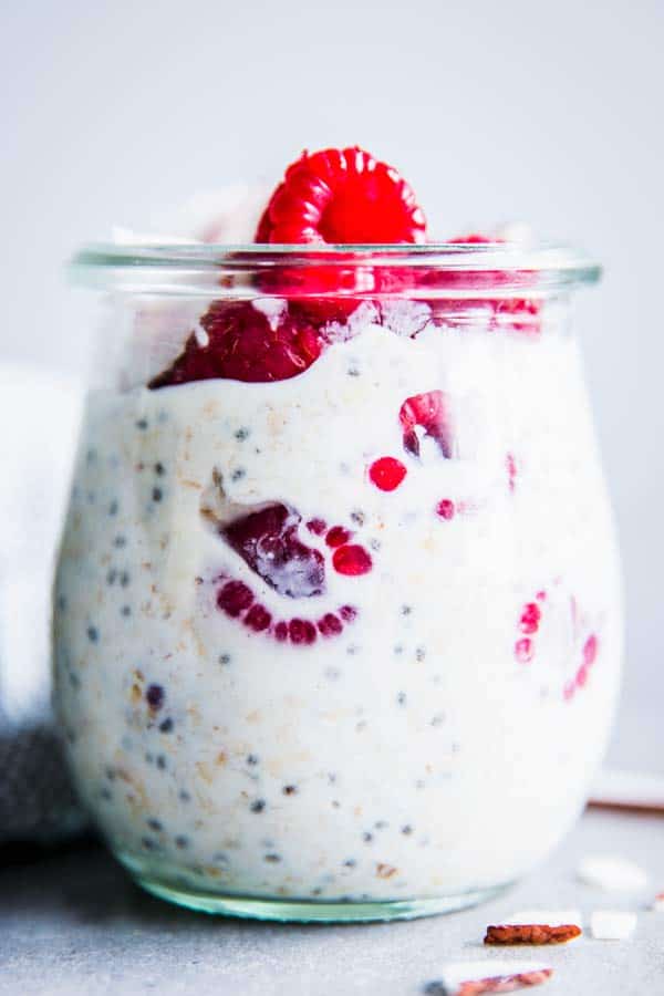
[(83, 390), (0, 365), (0, 842), (51, 841), (83, 817), (51, 712), (53, 563)]

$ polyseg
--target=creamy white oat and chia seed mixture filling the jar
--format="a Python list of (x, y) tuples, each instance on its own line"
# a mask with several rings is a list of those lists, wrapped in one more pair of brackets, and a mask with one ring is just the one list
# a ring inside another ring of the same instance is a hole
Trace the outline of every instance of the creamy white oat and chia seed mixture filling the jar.
[[(434, 390), (452, 458), (422, 433), (419, 458), (404, 452), (400, 408)], [(367, 473), (384, 456), (407, 468), (391, 492)], [(321, 594), (279, 594), (219, 531), (280, 502), (324, 557)], [(338, 573), (312, 519), (351, 530), (372, 569)], [(229, 578), (272, 620), (356, 618), (279, 643), (217, 608)], [(508, 882), (570, 826), (604, 749), (619, 589), (562, 334), (408, 339), (367, 320), (289, 381), (95, 393), (55, 593), (79, 785), (115, 851), (179, 888), (387, 900)]]

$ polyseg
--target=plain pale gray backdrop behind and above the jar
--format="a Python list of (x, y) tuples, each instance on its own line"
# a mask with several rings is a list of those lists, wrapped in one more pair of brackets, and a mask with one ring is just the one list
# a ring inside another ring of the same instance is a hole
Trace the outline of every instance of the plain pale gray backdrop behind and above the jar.
[(82, 371), (89, 330), (61, 272), (72, 249), (194, 190), (272, 181), (303, 146), (393, 162), (440, 236), (522, 219), (601, 259), (579, 318), (627, 582), (612, 757), (661, 767), (664, 3), (11, 8), (1, 359)]

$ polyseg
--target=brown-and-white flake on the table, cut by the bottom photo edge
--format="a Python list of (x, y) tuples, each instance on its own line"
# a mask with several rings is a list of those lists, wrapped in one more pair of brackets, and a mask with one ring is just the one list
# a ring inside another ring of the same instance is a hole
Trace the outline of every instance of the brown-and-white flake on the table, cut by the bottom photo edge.
[(453, 962), (439, 979), (424, 987), (427, 996), (481, 996), (538, 986), (553, 974), (549, 965), (531, 962)]

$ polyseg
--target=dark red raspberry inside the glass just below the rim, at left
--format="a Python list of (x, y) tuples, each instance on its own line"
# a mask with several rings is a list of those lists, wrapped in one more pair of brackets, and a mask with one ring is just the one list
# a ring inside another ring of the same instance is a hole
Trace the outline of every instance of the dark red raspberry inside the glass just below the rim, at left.
[(318, 360), (318, 330), (288, 308), (266, 314), (250, 301), (215, 301), (200, 319), (207, 342), (193, 332), (173, 365), (149, 382), (168, 387), (214, 377), (250, 383), (286, 381)]

